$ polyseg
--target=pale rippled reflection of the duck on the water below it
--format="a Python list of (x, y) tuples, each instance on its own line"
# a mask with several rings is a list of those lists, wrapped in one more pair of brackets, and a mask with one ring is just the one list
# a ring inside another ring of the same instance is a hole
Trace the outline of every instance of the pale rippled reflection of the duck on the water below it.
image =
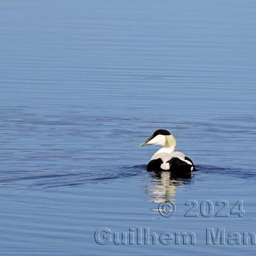
[(150, 202), (173, 202), (179, 186), (190, 182), (192, 174), (177, 176), (171, 172), (150, 172), (154, 179), (148, 185), (147, 192), (152, 198)]

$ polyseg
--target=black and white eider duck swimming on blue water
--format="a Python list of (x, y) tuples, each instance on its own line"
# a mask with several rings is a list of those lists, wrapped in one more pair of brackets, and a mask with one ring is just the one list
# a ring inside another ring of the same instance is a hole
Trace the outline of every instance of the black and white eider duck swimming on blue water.
[(176, 140), (167, 130), (159, 129), (150, 136), (142, 146), (160, 145), (162, 148), (151, 157), (147, 165), (148, 171), (169, 171), (176, 174), (186, 174), (195, 171), (195, 165), (182, 152), (174, 151)]

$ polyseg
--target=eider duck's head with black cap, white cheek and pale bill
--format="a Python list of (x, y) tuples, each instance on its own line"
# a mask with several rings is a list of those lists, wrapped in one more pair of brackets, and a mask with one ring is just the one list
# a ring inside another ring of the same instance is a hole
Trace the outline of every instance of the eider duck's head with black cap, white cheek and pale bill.
[(165, 148), (175, 148), (177, 143), (172, 134), (167, 130), (159, 129), (155, 131), (152, 136), (150, 136), (147, 140), (145, 140), (141, 147), (147, 145), (160, 145)]

